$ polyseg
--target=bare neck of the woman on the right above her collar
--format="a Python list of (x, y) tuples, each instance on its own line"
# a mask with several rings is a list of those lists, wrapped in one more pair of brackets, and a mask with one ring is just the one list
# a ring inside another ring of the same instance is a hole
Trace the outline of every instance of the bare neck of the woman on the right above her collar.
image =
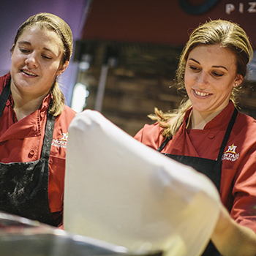
[(206, 124), (211, 121), (215, 116), (219, 115), (222, 110), (213, 113), (200, 113), (192, 109), (191, 118), (189, 122), (190, 129), (203, 129)]

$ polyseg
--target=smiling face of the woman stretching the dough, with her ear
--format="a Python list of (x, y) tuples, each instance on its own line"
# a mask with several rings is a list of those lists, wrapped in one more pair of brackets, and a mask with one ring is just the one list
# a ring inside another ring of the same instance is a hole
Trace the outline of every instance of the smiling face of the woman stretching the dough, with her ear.
[(219, 112), (230, 100), (235, 84), (243, 81), (236, 75), (236, 56), (220, 45), (200, 45), (188, 56), (184, 82), (192, 106), (202, 115)]

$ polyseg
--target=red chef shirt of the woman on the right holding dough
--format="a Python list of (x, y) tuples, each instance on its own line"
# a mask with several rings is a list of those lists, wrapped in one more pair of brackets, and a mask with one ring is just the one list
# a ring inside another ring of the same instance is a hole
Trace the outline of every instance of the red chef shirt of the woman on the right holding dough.
[[(186, 129), (191, 110), (187, 110), (183, 124), (162, 153), (217, 159), (233, 114), (233, 102), (204, 129)], [(165, 140), (161, 132), (158, 124), (146, 124), (135, 139), (157, 149)], [(256, 233), (256, 121), (241, 113), (238, 113), (222, 157), (220, 197), (233, 219)]]

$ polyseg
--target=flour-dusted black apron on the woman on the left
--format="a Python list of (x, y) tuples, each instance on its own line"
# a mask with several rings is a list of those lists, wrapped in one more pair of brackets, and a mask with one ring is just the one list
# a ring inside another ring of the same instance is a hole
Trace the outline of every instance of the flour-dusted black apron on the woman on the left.
[[(9, 96), (10, 82), (0, 95), (0, 118)], [(48, 203), (49, 157), (54, 124), (55, 117), (48, 113), (39, 160), (0, 162), (0, 211), (57, 226)]]

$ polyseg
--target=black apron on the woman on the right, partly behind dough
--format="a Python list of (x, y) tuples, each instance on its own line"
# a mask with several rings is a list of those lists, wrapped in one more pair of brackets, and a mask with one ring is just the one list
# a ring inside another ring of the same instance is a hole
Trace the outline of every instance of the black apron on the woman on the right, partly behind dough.
[[(233, 128), (233, 125), (236, 121), (236, 116), (238, 114), (238, 110), (235, 108), (233, 115), (230, 119), (230, 123), (228, 124), (227, 131), (225, 136), (222, 140), (222, 145), (219, 149), (219, 155), (217, 160), (211, 160), (206, 158), (200, 157), (187, 157), (187, 156), (180, 156), (180, 155), (173, 155), (173, 154), (165, 154), (167, 157), (175, 159), (178, 162), (183, 163), (184, 165), (189, 165), (193, 167), (195, 170), (199, 171), (200, 173), (205, 174), (211, 181), (214, 182), (215, 186), (219, 190), (220, 187), (220, 179), (222, 176), (222, 155), (224, 154), (225, 146), (227, 145), (227, 140), (230, 137), (230, 132)], [(167, 145), (167, 143), (172, 139), (172, 137), (167, 138), (157, 151), (161, 152), (163, 148)], [(206, 247), (205, 252), (203, 252), (202, 256), (219, 256), (220, 253), (215, 248), (214, 244), (209, 242), (208, 246)]]

